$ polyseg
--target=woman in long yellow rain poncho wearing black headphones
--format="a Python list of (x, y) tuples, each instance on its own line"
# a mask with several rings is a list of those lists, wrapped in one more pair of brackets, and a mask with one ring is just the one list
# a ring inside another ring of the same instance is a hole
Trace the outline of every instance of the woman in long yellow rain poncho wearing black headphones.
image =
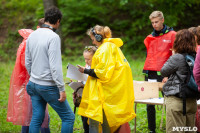
[(78, 114), (89, 118), (90, 133), (98, 133), (99, 122), (103, 132), (114, 132), (136, 116), (131, 68), (119, 48), (122, 40), (111, 38), (109, 27), (96, 25), (88, 35), (98, 49), (91, 69), (79, 66), (89, 77)]

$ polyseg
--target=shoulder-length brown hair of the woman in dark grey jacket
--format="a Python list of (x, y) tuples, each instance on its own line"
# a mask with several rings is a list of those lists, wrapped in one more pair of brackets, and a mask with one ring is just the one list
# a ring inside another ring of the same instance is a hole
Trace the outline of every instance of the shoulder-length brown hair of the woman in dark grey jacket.
[(195, 53), (196, 43), (194, 35), (188, 29), (178, 31), (174, 41), (173, 50), (175, 53)]

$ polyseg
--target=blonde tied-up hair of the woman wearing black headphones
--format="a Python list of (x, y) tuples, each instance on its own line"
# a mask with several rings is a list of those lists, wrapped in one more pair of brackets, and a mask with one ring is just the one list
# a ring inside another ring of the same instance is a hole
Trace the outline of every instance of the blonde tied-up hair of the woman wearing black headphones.
[(93, 35), (92, 29), (94, 29), (96, 34), (102, 35), (103, 39), (112, 37), (112, 32), (108, 26), (95, 25), (93, 28), (90, 28), (87, 31), (87, 35), (89, 35), (89, 36)]

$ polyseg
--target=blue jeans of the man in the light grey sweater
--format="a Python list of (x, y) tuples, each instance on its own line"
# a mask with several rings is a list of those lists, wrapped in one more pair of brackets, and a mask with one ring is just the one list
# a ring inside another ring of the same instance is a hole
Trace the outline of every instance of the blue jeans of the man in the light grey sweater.
[(59, 102), (59, 89), (57, 86), (43, 86), (28, 82), (27, 93), (31, 96), (33, 116), (29, 126), (29, 133), (39, 133), (45, 116), (46, 104), (48, 103), (62, 120), (61, 133), (73, 133), (75, 116), (67, 100)]

